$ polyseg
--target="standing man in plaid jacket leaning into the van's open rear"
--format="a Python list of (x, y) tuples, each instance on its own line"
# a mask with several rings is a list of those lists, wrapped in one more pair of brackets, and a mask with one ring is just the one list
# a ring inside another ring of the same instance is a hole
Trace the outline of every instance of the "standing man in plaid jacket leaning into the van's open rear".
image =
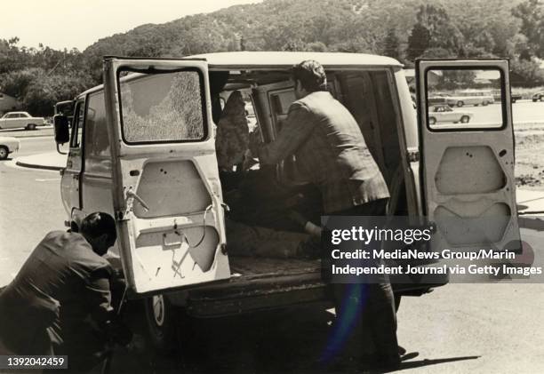
[[(289, 107), (282, 131), (252, 153), (262, 164), (296, 155), (297, 168), (321, 191), (327, 215), (385, 215), (388, 186), (356, 119), (326, 91), (324, 68), (315, 60), (302, 61), (292, 68), (292, 81), (297, 100)], [(398, 366), (396, 314), (388, 279), (380, 284), (334, 286), (337, 324), (345, 324), (342, 320), (349, 311), (364, 305), (366, 330), (374, 330), (374, 360), (381, 366)]]

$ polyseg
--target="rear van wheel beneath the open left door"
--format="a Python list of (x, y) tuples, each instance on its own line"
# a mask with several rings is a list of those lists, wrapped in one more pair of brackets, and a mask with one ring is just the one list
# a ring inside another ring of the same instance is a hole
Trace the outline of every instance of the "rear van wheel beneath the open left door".
[(179, 309), (163, 295), (144, 300), (148, 340), (158, 354), (170, 354), (177, 346)]

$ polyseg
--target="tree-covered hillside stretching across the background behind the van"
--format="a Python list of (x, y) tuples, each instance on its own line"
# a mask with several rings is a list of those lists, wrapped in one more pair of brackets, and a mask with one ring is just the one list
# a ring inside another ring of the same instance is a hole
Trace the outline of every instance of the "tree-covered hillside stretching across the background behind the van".
[(0, 39), (0, 91), (48, 115), (54, 102), (101, 82), (104, 55), (243, 50), (371, 52), (407, 66), (418, 57), (508, 57), (519, 84), (537, 86), (544, 84), (534, 59), (544, 58), (542, 29), (540, 0), (265, 0), (141, 25), (84, 52)]

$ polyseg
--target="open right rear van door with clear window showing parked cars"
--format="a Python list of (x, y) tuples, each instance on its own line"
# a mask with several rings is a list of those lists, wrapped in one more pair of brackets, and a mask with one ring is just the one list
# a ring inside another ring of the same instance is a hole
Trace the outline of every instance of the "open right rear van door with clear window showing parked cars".
[[(508, 60), (418, 60), (421, 175), (433, 248), (519, 250)], [(428, 99), (500, 90), (487, 106), (452, 107), (431, 118)]]

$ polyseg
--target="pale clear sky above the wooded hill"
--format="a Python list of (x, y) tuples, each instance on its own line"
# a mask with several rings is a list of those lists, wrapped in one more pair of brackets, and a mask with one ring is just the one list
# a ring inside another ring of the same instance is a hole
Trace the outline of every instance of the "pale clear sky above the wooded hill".
[(189, 14), (217, 11), (261, 0), (3, 0), (0, 39), (19, 46), (83, 51), (102, 37), (146, 23), (165, 23)]

